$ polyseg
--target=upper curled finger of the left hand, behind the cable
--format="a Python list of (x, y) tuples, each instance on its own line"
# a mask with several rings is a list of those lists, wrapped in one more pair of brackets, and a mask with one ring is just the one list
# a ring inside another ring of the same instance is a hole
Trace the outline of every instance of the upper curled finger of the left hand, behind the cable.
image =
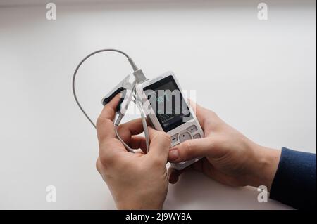
[(138, 135), (143, 132), (142, 119), (133, 119), (125, 124), (118, 126), (118, 133), (125, 143), (130, 143), (131, 136)]

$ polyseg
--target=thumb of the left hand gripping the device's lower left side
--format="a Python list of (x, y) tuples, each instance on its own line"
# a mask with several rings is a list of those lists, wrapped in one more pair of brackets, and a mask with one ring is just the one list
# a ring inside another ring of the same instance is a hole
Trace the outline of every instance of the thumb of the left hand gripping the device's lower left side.
[(167, 163), (168, 151), (170, 150), (170, 136), (163, 131), (156, 131), (149, 127), (149, 152), (148, 156), (164, 166)]

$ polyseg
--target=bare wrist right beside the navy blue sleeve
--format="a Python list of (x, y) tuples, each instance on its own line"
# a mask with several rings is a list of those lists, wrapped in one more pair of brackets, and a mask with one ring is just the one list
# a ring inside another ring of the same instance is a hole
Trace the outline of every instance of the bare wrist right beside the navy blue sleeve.
[(253, 187), (264, 185), (270, 191), (280, 162), (280, 150), (273, 150), (253, 143), (251, 153), (252, 164), (249, 185)]

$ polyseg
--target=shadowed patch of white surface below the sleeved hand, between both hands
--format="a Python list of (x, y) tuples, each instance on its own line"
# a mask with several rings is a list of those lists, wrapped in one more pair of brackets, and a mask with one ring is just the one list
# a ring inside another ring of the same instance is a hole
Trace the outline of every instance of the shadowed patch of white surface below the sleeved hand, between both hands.
[(163, 209), (292, 209), (271, 199), (260, 203), (254, 187), (229, 187), (196, 171), (170, 185)]

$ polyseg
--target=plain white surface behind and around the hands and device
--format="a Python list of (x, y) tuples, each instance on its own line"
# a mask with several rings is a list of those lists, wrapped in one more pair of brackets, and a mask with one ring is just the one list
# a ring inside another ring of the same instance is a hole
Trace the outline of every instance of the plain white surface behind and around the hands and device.
[[(316, 1), (266, 1), (268, 21), (252, 1), (57, 4), (56, 21), (44, 4), (9, 2), (0, 8), (0, 209), (115, 209), (95, 169), (95, 131), (71, 92), (77, 62), (99, 48), (126, 51), (148, 77), (173, 70), (257, 143), (316, 153)], [(128, 72), (116, 54), (83, 65), (77, 91), (94, 119)], [(46, 203), (47, 185), (56, 203)], [(288, 209), (257, 194), (187, 173), (164, 208)]]

